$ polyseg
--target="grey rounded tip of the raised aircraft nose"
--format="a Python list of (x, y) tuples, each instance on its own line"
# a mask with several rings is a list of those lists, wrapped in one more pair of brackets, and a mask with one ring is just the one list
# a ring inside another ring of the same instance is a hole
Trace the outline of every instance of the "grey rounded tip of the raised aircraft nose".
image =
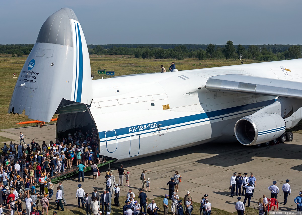
[(62, 8), (56, 11), (43, 23), (36, 42), (54, 43), (72, 47), (70, 19), (79, 21), (72, 9)]

